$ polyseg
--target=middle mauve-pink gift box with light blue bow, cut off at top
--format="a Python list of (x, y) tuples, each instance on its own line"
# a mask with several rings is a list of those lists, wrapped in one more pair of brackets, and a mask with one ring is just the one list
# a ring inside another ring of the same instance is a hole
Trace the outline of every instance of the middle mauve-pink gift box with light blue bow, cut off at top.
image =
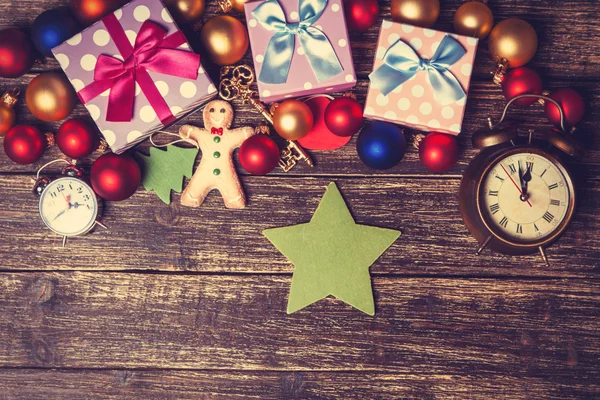
[(356, 85), (342, 0), (252, 1), (244, 8), (263, 102)]

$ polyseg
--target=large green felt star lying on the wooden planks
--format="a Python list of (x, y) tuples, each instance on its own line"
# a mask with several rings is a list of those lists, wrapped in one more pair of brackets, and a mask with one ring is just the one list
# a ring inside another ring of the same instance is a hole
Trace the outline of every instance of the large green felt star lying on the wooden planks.
[(288, 314), (329, 295), (375, 314), (369, 267), (400, 231), (354, 222), (335, 183), (327, 187), (309, 223), (263, 234), (295, 266)]

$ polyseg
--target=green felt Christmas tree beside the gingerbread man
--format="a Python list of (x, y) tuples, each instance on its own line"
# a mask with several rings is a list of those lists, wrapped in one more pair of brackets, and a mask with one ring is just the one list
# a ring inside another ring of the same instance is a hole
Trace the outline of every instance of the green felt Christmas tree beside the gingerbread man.
[(183, 178), (191, 178), (197, 148), (168, 146), (166, 150), (150, 148), (150, 155), (139, 154), (142, 169), (142, 185), (146, 190), (154, 190), (165, 203), (171, 203), (171, 190), (181, 193)]

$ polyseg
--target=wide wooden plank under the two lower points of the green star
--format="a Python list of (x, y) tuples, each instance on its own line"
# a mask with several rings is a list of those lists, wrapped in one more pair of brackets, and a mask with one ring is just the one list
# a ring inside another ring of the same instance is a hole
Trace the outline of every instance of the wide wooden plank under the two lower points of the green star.
[(375, 317), (290, 281), (3, 273), (0, 365), (600, 378), (597, 281), (377, 277)]

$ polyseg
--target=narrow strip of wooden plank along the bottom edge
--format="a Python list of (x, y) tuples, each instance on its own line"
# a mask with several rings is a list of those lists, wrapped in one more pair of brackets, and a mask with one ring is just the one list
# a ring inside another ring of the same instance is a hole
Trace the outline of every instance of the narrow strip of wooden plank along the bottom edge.
[(375, 372), (233, 372), (0, 369), (10, 400), (482, 399), (593, 398), (595, 382), (531, 376)]

